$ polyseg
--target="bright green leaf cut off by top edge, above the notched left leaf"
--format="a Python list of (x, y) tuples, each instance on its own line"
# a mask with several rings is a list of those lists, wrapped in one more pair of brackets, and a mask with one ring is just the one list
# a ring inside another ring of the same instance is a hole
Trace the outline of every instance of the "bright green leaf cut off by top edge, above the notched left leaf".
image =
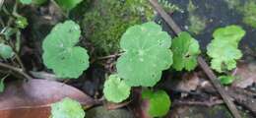
[(55, 0), (57, 4), (63, 9), (70, 11), (75, 8), (83, 0)]

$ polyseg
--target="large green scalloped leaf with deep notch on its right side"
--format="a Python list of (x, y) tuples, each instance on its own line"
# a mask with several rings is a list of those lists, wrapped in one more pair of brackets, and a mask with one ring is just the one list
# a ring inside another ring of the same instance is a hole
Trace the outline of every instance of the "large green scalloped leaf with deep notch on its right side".
[(67, 21), (56, 25), (43, 41), (43, 63), (59, 78), (78, 78), (89, 67), (87, 50), (75, 46), (80, 33), (79, 25)]

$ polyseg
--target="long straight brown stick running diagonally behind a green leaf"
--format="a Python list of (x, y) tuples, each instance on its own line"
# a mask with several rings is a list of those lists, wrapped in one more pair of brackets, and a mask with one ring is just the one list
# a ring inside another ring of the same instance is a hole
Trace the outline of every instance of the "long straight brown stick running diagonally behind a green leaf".
[[(156, 9), (156, 11), (160, 14), (160, 17), (167, 23), (167, 25), (173, 29), (173, 31), (178, 34), (182, 30), (175, 24), (170, 16), (161, 8), (158, 3), (158, 0), (149, 0), (152, 6)], [(209, 77), (210, 81), (214, 85), (214, 87), (219, 91), (221, 96), (224, 99), (226, 106), (229, 108), (234, 118), (241, 118), (238, 110), (236, 109), (234, 103), (231, 101), (230, 96), (225, 93), (220, 81), (217, 79), (217, 76), (213, 73), (213, 71), (209, 68), (208, 64), (202, 57), (198, 57), (198, 63), (200, 67), (204, 70), (204, 72)]]

